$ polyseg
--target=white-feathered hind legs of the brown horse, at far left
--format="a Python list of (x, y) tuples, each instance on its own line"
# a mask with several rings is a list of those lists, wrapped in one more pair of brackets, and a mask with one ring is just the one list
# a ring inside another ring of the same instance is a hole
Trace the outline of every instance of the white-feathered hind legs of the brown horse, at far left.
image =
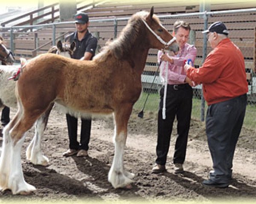
[(26, 113), (19, 108), (15, 118), (3, 132), (3, 152), (0, 157), (0, 187), (12, 190), (13, 194), (28, 194), (35, 187), (24, 180), (20, 162), (20, 151), (24, 142), (24, 133), (34, 124), (41, 112)]

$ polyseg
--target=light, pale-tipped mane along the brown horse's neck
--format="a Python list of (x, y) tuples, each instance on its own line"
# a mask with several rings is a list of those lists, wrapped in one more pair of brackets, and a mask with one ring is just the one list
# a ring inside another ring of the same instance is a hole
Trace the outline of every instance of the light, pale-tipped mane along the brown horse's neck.
[[(147, 15), (147, 11), (140, 11), (132, 15), (119, 37), (111, 42), (106, 42), (102, 51), (93, 59), (96, 61), (105, 61), (111, 54), (117, 59), (122, 59), (130, 55), (131, 48), (134, 46), (134, 42), (138, 37), (140, 27), (143, 25), (142, 19), (145, 19)], [(156, 15), (153, 15), (153, 18), (157, 23), (160, 23)]]

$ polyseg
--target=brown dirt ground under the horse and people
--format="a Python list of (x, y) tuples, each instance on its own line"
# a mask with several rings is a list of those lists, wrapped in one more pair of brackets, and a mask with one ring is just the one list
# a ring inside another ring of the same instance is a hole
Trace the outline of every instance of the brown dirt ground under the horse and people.
[[(13, 117), (14, 111), (11, 111)], [(176, 139), (173, 130), (167, 168), (160, 175), (151, 174), (155, 160), (157, 115), (147, 113), (143, 119), (132, 113), (124, 163), (135, 174), (132, 189), (114, 189), (107, 175), (113, 160), (113, 119), (94, 119), (92, 123), (89, 156), (65, 158), (62, 153), (68, 148), (65, 115), (53, 110), (47, 130), (41, 142), (43, 153), (49, 158), (49, 166), (42, 167), (26, 161), (25, 151), (34, 129), (26, 135), (22, 149), (22, 166), (25, 180), (37, 190), (32, 195), (12, 195), (7, 190), (0, 193), (0, 201), (14, 198), (22, 201), (79, 200), (99, 201), (212, 201), (256, 200), (256, 133), (244, 129), (241, 132), (234, 157), (233, 181), (226, 189), (205, 187), (201, 182), (207, 178), (212, 161), (207, 146), (204, 123), (192, 120), (185, 172), (173, 173), (172, 156)], [(0, 138), (2, 142), (2, 137)]]

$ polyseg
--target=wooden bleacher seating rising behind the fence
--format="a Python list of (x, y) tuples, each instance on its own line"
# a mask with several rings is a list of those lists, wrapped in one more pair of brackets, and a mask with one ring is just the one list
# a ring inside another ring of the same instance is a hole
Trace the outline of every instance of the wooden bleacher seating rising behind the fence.
[[(125, 1), (123, 2), (107, 2), (100, 6), (90, 8), (88, 10), (83, 10), (83, 7), (80, 8), (80, 11), (86, 12), (91, 20), (97, 20), (102, 18), (112, 18), (115, 17), (129, 17), (131, 14), (134, 14), (137, 11), (149, 10), (151, 6), (154, 6), (154, 11), (157, 15), (163, 14), (178, 14), (178, 13), (190, 13), (198, 12), (199, 5), (195, 2), (184, 3), (184, 1), (170, 1), (165, 3), (141, 3), (140, 5), (134, 4), (130, 5)], [(189, 5), (190, 4), (190, 5)], [(241, 3), (212, 3), (212, 11), (224, 10), (224, 9), (236, 9), (236, 8), (252, 8), (256, 6), (254, 0), (249, 0), (246, 4)], [(58, 10), (58, 9), (55, 9)], [(196, 31), (196, 41), (195, 46), (197, 47), (198, 54), (195, 61), (196, 66), (200, 66), (202, 63), (202, 52), (203, 52), (203, 31), (204, 20), (199, 17), (183, 17), (183, 20), (186, 20), (190, 23), (191, 28)], [(169, 31), (172, 31), (172, 25), (177, 19), (175, 18), (166, 18), (161, 19), (163, 26), (165, 26)], [(209, 25), (215, 21), (223, 21), (227, 28), (230, 31), (229, 37), (231, 40), (239, 46), (242, 53), (244, 54), (245, 64), (247, 69), (247, 79), (250, 80), (251, 73), (254, 73), (255, 70), (255, 36), (256, 36), (256, 13), (240, 13), (240, 14), (222, 14), (214, 15), (209, 17)], [(51, 22), (51, 21), (49, 21)], [(117, 23), (117, 35), (120, 33), (122, 28), (126, 25), (127, 21), (122, 20)], [(57, 25), (56, 26), (56, 37), (59, 37), (67, 32), (74, 31), (73, 24)], [(114, 27), (113, 22), (90, 22), (90, 32), (99, 32), (99, 47), (102, 48), (105, 45), (105, 42), (108, 40), (113, 40), (114, 38)], [(63, 37), (60, 37), (63, 39)], [(6, 34), (5, 42), (9, 46), (9, 36)], [(20, 32), (15, 34), (15, 50), (14, 54), (16, 58), (26, 57), (32, 58), (35, 57), (35, 54), (41, 54), (47, 52), (51, 47), (52, 41), (52, 28), (42, 28), (41, 30), (34, 32)], [(48, 43), (48, 44), (47, 44)], [(44, 45), (44, 46), (43, 46)], [(10, 47), (10, 46), (9, 46)], [(35, 49), (41, 47), (40, 50), (35, 52)], [(211, 50), (210, 46), (207, 47), (207, 53)], [(145, 66), (145, 72), (152, 72), (157, 70), (156, 65), (156, 55), (157, 50), (150, 50), (149, 56), (147, 59), (147, 64)]]

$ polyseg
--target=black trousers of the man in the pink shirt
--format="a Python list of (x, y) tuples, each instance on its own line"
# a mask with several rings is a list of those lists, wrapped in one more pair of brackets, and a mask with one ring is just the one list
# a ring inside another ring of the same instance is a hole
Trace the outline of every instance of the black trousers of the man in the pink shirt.
[(168, 85), (166, 95), (166, 119), (163, 119), (164, 87), (160, 90), (160, 105), (158, 111), (157, 127), (157, 159), (156, 163), (165, 165), (170, 146), (172, 126), (177, 117), (177, 139), (173, 162), (183, 164), (186, 156), (186, 146), (189, 134), (189, 125), (192, 109), (192, 88), (188, 84)]

